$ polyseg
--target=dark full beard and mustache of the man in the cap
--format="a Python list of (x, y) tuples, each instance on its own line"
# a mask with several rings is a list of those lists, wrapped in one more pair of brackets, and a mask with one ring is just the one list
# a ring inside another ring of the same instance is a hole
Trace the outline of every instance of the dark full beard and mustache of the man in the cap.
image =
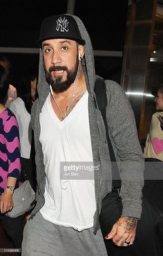
[[(78, 71), (78, 65), (79, 60), (77, 57), (75, 66), (71, 70), (68, 70), (67, 66), (51, 66), (48, 71), (45, 68), (46, 80), (52, 86), (52, 91), (54, 91), (55, 93), (62, 93), (66, 91), (75, 81)], [(51, 75), (52, 71), (66, 71), (67, 79), (65, 81), (61, 81), (62, 75), (56, 75), (55, 79), (53, 79)]]

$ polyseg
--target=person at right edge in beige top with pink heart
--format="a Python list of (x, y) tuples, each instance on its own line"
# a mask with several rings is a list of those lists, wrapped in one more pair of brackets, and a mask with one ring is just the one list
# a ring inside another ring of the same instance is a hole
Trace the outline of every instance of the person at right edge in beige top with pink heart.
[(151, 118), (144, 147), (145, 185), (143, 194), (163, 214), (163, 84), (160, 84), (153, 94), (155, 95), (156, 111)]

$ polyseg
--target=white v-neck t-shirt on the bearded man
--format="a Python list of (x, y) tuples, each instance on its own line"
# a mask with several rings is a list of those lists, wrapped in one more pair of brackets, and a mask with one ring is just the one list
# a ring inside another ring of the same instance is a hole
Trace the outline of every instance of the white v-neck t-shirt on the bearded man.
[(46, 172), (45, 204), (40, 212), (44, 219), (61, 226), (79, 231), (91, 228), (96, 209), (94, 179), (87, 179), (88, 173), (84, 179), (77, 180), (73, 176), (63, 179), (60, 165), (75, 162), (93, 165), (88, 91), (63, 121), (52, 109), (49, 94), (39, 119), (39, 141)]

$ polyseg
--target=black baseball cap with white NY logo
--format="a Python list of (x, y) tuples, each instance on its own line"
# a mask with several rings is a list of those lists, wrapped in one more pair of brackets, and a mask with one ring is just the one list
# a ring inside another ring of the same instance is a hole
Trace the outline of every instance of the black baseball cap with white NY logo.
[(67, 38), (84, 45), (86, 42), (81, 38), (77, 22), (69, 15), (49, 16), (41, 23), (39, 32), (39, 44), (46, 39)]

